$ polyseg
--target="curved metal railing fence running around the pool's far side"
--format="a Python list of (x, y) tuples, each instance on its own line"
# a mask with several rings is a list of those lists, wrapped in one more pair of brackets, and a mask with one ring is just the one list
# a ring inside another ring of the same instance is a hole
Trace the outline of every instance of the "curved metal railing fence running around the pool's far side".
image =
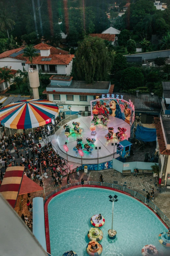
[[(56, 189), (55, 191), (53, 191), (52, 193), (50, 193), (48, 196), (46, 196), (45, 200), (44, 200), (44, 204), (46, 203), (46, 201), (55, 193), (60, 192), (64, 189), (67, 188), (71, 188), (74, 186), (79, 186), (81, 185), (81, 182), (77, 182), (77, 183), (73, 183), (73, 184), (68, 184), (64, 187), (61, 187), (59, 189)], [(158, 216), (163, 220), (163, 222), (170, 227), (170, 220), (166, 217), (166, 215), (151, 201), (148, 202), (147, 198), (141, 194), (139, 194), (136, 191), (133, 191), (131, 189), (128, 189), (126, 187), (117, 185), (117, 184), (113, 184), (113, 183), (104, 183), (102, 184), (102, 182), (96, 182), (96, 181), (85, 181), (84, 185), (91, 185), (91, 186), (101, 186), (101, 187), (107, 187), (107, 188), (112, 188), (112, 189), (118, 189), (120, 191), (124, 191), (129, 193), (131, 196), (139, 199), (141, 202), (147, 204), (152, 210), (154, 210), (155, 213), (158, 214)]]

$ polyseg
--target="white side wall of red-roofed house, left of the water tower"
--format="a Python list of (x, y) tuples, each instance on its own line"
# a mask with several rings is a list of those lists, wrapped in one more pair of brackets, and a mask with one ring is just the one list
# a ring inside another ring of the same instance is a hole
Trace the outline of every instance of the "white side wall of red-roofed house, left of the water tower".
[(23, 70), (23, 67), (28, 70), (28, 64), (25, 64), (25, 66), (22, 66), (21, 63), (25, 63), (25, 61), (21, 61), (18, 59), (6, 57), (3, 59), (0, 59), (0, 67), (8, 66), (8, 68), (11, 66), (11, 69), (14, 70)]

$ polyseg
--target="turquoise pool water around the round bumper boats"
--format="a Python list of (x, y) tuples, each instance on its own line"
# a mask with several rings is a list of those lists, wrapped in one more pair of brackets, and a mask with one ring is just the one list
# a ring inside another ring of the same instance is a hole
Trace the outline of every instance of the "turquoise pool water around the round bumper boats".
[[(118, 195), (114, 204), (113, 228), (117, 231), (114, 243), (107, 238), (111, 229), (112, 203), (109, 195)], [(138, 256), (143, 246), (152, 244), (159, 255), (170, 255), (170, 248), (162, 246), (158, 235), (167, 231), (158, 217), (145, 205), (119, 192), (98, 188), (78, 188), (55, 196), (48, 205), (50, 247), (52, 256), (62, 256), (67, 250), (87, 256), (87, 232), (92, 227), (90, 218), (101, 213), (105, 225), (101, 240), (106, 256)]]

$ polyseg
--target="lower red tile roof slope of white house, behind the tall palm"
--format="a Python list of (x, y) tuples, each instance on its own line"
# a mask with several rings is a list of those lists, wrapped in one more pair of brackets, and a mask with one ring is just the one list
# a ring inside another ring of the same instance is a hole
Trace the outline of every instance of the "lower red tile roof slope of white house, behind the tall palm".
[[(43, 58), (51, 58), (50, 61), (42, 61)], [(47, 57), (41, 55), (33, 58), (33, 64), (53, 64), (53, 65), (67, 65), (74, 58), (74, 55), (66, 54), (50, 54)], [(26, 64), (31, 64), (29, 59), (27, 59)]]

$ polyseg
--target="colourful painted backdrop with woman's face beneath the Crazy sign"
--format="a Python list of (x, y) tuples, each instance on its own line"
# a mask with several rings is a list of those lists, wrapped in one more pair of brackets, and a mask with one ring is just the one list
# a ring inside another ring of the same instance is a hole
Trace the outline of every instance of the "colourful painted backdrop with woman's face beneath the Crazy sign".
[(132, 102), (122, 99), (105, 98), (91, 101), (92, 114), (103, 115), (104, 113), (110, 114), (111, 117), (117, 117), (130, 126), (135, 119), (135, 108)]

